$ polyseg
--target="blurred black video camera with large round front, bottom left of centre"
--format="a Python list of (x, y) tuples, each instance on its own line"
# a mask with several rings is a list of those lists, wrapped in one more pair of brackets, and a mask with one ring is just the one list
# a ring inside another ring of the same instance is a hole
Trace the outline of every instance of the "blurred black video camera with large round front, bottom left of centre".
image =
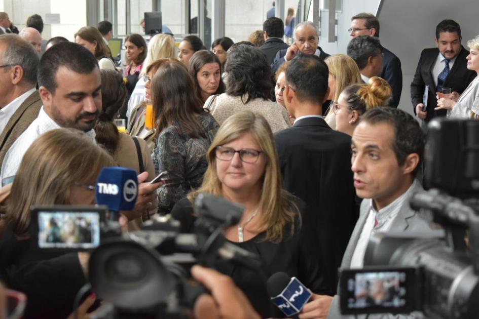
[(91, 253), (91, 290), (104, 301), (96, 318), (187, 318), (204, 293), (190, 278), (193, 264), (261, 265), (259, 256), (229, 243), (223, 234), (239, 222), (242, 206), (199, 194), (194, 212), (194, 234), (181, 234), (177, 221), (155, 216), (141, 230), (113, 238)]

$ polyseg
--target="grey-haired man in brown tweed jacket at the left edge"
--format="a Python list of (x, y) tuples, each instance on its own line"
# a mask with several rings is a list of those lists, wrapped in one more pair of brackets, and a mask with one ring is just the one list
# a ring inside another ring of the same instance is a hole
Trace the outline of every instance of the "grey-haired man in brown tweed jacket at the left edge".
[(19, 36), (0, 36), (0, 167), (15, 140), (38, 116), (42, 100), (35, 90), (39, 58)]

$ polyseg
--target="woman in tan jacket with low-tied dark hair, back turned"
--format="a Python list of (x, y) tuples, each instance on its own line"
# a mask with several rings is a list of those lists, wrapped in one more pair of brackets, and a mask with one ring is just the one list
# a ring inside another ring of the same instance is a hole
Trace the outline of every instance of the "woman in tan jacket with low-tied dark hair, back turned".
[[(113, 156), (117, 165), (135, 170), (137, 174), (148, 172), (147, 182), (155, 177), (151, 152), (146, 142), (140, 138), (119, 133), (113, 123), (118, 110), (125, 104), (126, 87), (119, 72), (100, 70), (101, 74), (101, 102), (102, 109), (95, 124), (95, 139), (98, 145), (103, 146)], [(134, 140), (136, 139), (136, 141)], [(141, 163), (139, 162), (141, 158)], [(142, 220), (146, 220), (155, 213), (154, 207), (146, 209), (142, 215), (129, 215), (130, 229), (137, 229)]]

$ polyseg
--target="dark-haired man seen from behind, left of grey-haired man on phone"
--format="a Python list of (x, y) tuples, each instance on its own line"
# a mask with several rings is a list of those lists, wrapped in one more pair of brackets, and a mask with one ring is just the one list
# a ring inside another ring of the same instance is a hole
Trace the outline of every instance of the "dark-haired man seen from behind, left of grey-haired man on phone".
[(274, 61), (274, 57), (279, 50), (287, 49), (288, 45), (283, 42), (284, 23), (280, 18), (269, 18), (263, 23), (263, 32), (265, 43), (260, 47), (268, 57), (268, 63)]

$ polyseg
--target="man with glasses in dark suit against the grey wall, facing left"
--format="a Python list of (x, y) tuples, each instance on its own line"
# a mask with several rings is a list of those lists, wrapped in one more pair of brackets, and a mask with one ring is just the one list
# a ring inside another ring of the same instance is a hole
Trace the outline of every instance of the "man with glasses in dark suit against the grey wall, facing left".
[[(379, 20), (371, 13), (359, 13), (351, 18), (349, 35), (353, 38), (360, 35), (371, 35), (379, 38)], [(379, 76), (384, 78), (392, 89), (388, 106), (397, 107), (402, 92), (401, 61), (391, 51), (381, 46), (382, 71)]]

